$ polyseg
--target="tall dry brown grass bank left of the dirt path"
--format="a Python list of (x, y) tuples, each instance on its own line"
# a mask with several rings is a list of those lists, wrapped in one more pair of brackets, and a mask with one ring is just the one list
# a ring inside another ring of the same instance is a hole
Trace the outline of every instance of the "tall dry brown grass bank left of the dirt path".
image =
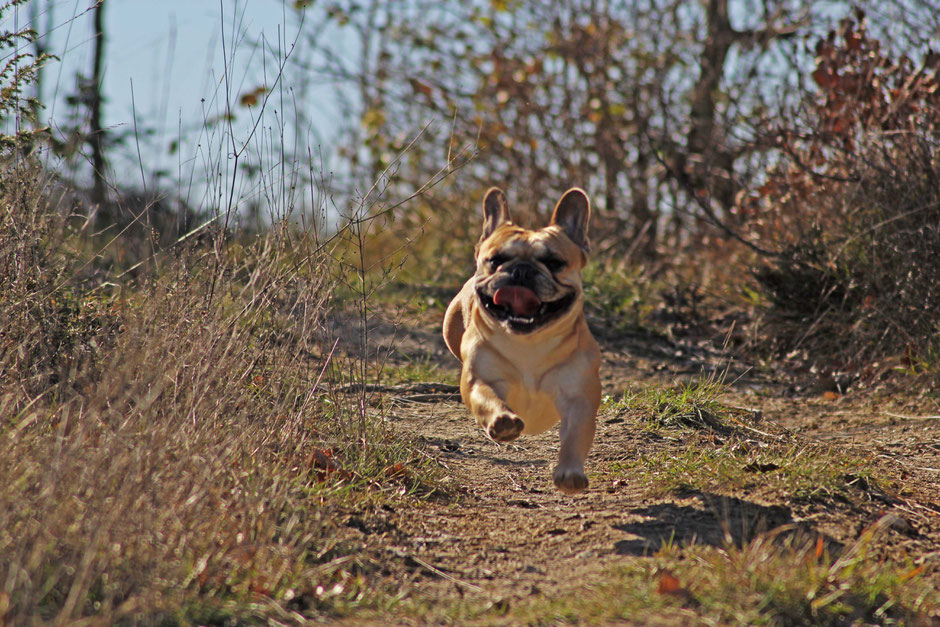
[(79, 287), (61, 253), (75, 236), (37, 176), (9, 168), (0, 187), (0, 616), (188, 623), (381, 603), (337, 518), (427, 492), (435, 470), (330, 393), (323, 249), (275, 228)]

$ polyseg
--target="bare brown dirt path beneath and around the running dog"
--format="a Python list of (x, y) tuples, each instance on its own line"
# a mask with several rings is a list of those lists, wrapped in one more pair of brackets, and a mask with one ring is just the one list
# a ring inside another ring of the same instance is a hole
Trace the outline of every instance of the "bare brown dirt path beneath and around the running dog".
[[(423, 352), (425, 359), (430, 355), (456, 373), (458, 364), (442, 343), (428, 346), (433, 338), (430, 328), (403, 341), (399, 333), (397, 350)], [(605, 394), (616, 397), (643, 383), (669, 385), (677, 372), (717, 366), (707, 355), (664, 347), (661, 339), (630, 342), (606, 342)], [(940, 420), (892, 401), (784, 392), (782, 386), (745, 376), (723, 400), (759, 410), (759, 431), (771, 437), (831, 443), (870, 457), (897, 473), (900, 488), (862, 486), (864, 493), (848, 502), (788, 502), (762, 496), (759, 489), (651, 494), (642, 482), (610, 469), (640, 455), (678, 455), (716, 438), (720, 444), (720, 437), (688, 429), (644, 429), (635, 416), (608, 411), (599, 416), (588, 460), (589, 490), (564, 496), (551, 482), (557, 428), (497, 445), (483, 437), (459, 399), (424, 395), (416, 402), (402, 394), (391, 397), (391, 420), (423, 440), (464, 491), (456, 500), (387, 512), (382, 524), (373, 521), (373, 528), (361, 532), (377, 551), (404, 564), (406, 587), (428, 603), (469, 598), (509, 607), (532, 595), (577, 593), (602, 580), (612, 566), (652, 555), (665, 541), (723, 546), (730, 538), (741, 545), (760, 532), (790, 525), (821, 534), (838, 547), (892, 513), (897, 522), (885, 535), (883, 549), (919, 556), (933, 565), (932, 576), (940, 584)]]

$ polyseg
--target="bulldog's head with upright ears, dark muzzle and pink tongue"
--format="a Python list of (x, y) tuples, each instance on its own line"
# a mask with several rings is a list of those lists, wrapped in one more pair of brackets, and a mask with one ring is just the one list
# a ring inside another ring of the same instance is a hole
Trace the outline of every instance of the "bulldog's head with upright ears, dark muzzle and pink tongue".
[(585, 193), (566, 192), (549, 225), (537, 231), (510, 221), (496, 188), (487, 192), (483, 216), (474, 287), (484, 315), (510, 333), (528, 334), (580, 314), (590, 216)]

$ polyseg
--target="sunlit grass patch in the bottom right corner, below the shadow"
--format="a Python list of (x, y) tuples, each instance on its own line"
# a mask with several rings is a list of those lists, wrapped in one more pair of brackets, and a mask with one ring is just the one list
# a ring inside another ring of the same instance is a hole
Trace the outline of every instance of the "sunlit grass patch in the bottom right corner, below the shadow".
[(786, 529), (741, 547), (666, 543), (651, 560), (611, 569), (577, 596), (539, 598), (506, 618), (464, 611), (479, 624), (932, 624), (940, 595), (918, 579), (923, 568), (871, 555), (889, 523), (878, 521), (838, 556), (821, 536)]

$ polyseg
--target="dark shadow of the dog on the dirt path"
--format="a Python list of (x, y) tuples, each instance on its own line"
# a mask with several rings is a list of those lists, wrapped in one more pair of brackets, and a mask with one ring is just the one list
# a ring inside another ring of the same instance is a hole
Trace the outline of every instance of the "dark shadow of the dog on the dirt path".
[(614, 552), (647, 556), (659, 551), (664, 544), (742, 547), (768, 533), (772, 533), (775, 540), (822, 537), (830, 554), (841, 552), (842, 545), (836, 540), (819, 533), (808, 523), (794, 521), (789, 507), (760, 505), (708, 492), (696, 491), (683, 496), (699, 499), (702, 506), (657, 503), (630, 510), (631, 514), (645, 519), (614, 525), (615, 529), (635, 536), (617, 541)]

